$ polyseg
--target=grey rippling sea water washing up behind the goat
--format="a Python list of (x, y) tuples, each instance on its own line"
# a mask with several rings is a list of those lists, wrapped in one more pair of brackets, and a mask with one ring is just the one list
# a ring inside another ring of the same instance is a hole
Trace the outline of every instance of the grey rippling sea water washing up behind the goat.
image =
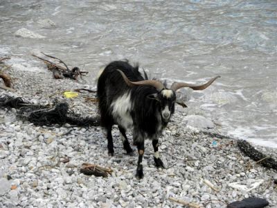
[[(39, 21), (51, 19), (55, 27)], [(15, 37), (20, 28), (44, 39)], [(193, 92), (222, 131), (277, 148), (277, 1), (0, 1), (0, 55), (26, 69), (34, 51), (90, 71), (127, 58), (158, 78), (213, 86)], [(23, 56), (21, 56), (23, 55)], [(33, 67), (33, 68), (32, 68)]]

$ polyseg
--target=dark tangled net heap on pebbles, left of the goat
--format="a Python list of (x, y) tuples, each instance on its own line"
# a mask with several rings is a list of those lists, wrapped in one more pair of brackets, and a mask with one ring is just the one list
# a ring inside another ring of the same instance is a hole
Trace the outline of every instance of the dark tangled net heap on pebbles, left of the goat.
[(74, 112), (69, 112), (69, 104), (66, 102), (54, 102), (54, 106), (35, 105), (24, 101), (23, 98), (6, 95), (0, 97), (0, 107), (19, 110), (17, 112), (19, 117), (35, 125), (64, 125), (65, 123), (78, 126), (100, 125), (98, 117), (82, 117)]

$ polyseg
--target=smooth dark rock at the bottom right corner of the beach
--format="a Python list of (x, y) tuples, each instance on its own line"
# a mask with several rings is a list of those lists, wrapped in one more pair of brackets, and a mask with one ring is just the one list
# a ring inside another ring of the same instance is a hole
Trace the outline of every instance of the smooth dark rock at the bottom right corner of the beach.
[(262, 208), (269, 205), (269, 202), (263, 198), (244, 198), (244, 200), (232, 202), (227, 208)]

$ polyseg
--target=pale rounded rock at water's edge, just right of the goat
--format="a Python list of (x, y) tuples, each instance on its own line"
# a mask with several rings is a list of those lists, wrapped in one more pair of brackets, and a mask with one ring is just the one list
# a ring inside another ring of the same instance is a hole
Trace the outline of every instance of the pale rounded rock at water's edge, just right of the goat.
[(185, 116), (184, 119), (188, 121), (187, 125), (190, 125), (194, 128), (215, 128), (215, 124), (211, 120), (206, 119), (204, 116), (190, 115)]

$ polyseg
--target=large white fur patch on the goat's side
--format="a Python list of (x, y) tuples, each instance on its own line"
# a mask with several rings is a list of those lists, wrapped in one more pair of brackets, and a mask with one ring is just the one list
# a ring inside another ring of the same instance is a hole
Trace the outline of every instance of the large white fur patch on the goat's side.
[(131, 95), (127, 92), (111, 103), (113, 107), (113, 116), (116, 124), (123, 126), (123, 128), (131, 128), (133, 125), (130, 110), (132, 108)]

